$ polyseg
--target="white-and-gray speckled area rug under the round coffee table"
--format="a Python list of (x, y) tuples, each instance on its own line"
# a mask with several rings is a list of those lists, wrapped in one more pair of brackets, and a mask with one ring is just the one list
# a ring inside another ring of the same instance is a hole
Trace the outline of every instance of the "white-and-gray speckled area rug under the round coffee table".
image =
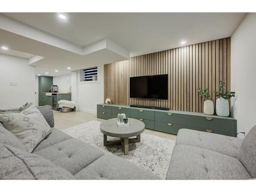
[[(105, 154), (114, 154), (129, 160), (165, 179), (175, 140), (142, 133), (141, 142), (129, 144), (129, 155), (124, 156), (121, 145), (103, 146), (103, 134), (99, 121), (90, 121), (70, 127), (63, 132), (70, 136), (101, 148)], [(108, 140), (115, 140), (108, 136)]]

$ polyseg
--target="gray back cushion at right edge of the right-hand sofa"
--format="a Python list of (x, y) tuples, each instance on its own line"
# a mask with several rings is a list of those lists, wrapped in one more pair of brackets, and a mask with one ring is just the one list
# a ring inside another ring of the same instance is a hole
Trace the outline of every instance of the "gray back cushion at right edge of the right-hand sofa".
[(238, 159), (243, 163), (251, 177), (256, 177), (256, 125), (245, 136)]

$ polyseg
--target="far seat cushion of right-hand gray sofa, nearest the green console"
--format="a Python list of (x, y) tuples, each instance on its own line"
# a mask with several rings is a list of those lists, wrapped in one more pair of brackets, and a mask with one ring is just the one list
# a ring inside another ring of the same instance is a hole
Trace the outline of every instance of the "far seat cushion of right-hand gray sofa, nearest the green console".
[(228, 137), (224, 135), (206, 133), (188, 129), (180, 129), (176, 144), (197, 146), (219, 152), (232, 157), (237, 157), (243, 139)]

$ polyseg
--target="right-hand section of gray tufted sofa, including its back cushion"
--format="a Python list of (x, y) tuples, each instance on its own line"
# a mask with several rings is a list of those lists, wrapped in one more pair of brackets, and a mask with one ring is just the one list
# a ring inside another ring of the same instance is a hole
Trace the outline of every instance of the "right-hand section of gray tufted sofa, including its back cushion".
[(256, 125), (244, 139), (179, 130), (166, 179), (255, 177)]

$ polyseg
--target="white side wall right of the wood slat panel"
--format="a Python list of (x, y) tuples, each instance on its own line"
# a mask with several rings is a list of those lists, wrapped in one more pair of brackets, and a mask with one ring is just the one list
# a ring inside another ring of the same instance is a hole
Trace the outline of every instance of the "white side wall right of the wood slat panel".
[[(231, 36), (232, 116), (238, 132), (256, 124), (256, 13), (249, 13)], [(242, 134), (239, 134), (242, 137)]]

